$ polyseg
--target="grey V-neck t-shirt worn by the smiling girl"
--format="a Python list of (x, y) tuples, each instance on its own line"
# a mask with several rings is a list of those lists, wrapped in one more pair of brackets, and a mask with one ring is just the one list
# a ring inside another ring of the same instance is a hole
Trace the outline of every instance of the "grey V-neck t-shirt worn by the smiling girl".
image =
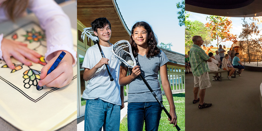
[[(140, 66), (141, 74), (153, 89), (159, 100), (162, 101), (162, 92), (158, 80), (158, 71), (160, 66), (165, 65), (169, 60), (163, 51), (160, 51), (155, 57), (147, 58), (146, 55), (139, 55), (135, 58), (137, 65)], [(121, 66), (126, 67), (123, 63)], [(129, 83), (128, 102), (156, 102), (152, 93), (145, 83), (138, 76)]]

